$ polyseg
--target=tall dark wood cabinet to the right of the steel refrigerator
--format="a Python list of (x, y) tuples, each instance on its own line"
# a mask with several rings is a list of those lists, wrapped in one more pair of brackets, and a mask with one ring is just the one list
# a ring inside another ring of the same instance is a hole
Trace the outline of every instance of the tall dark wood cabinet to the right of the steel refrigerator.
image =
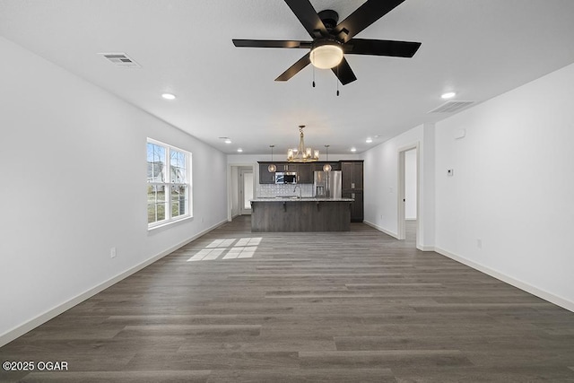
[(363, 161), (342, 161), (341, 178), (343, 196), (353, 198), (351, 221), (362, 222), (365, 216), (363, 204)]

